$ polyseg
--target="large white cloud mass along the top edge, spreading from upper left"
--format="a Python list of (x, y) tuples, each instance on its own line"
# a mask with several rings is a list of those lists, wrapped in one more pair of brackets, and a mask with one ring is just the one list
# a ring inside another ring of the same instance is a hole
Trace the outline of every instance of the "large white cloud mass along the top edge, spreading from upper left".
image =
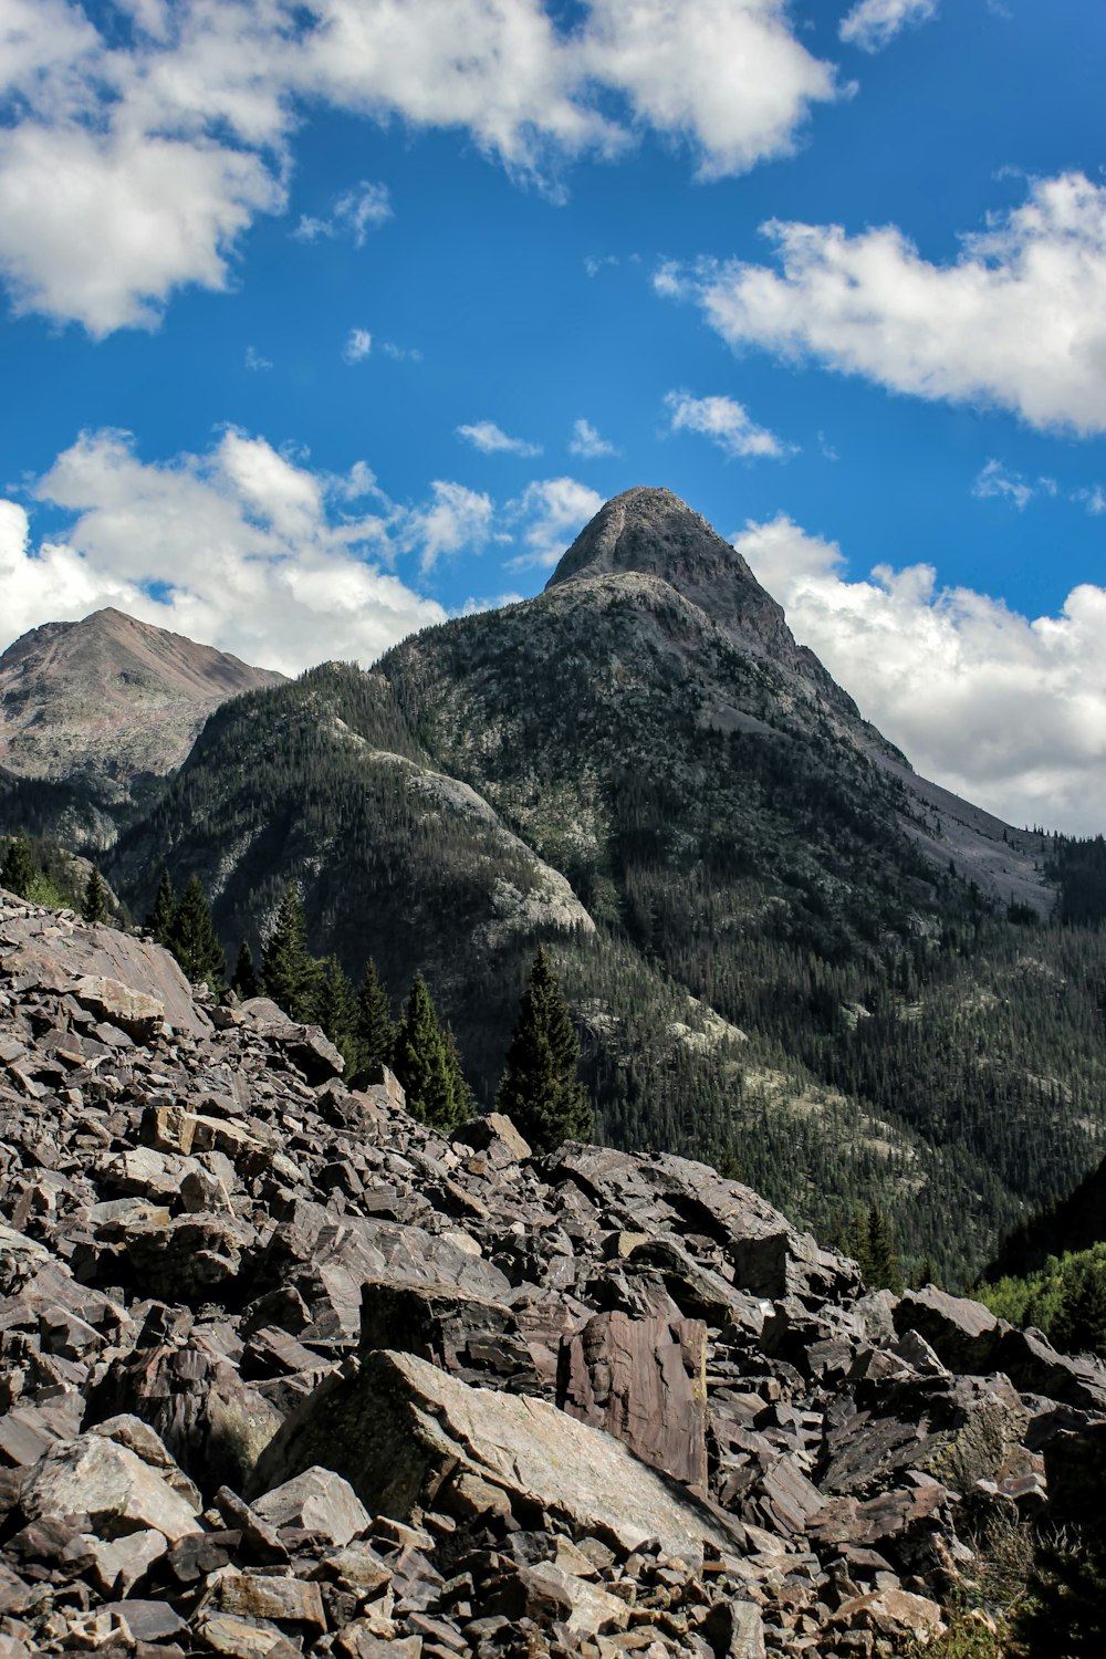
[[(131, 0), (98, 32), (70, 0), (3, 0), (0, 275), (18, 310), (99, 337), (154, 327), (186, 284), (226, 289), (282, 212), (308, 106), (466, 131), (554, 184), (652, 128), (701, 176), (794, 148), (834, 71), (786, 0)], [(295, 234), (360, 246), (390, 214), (361, 181)]]

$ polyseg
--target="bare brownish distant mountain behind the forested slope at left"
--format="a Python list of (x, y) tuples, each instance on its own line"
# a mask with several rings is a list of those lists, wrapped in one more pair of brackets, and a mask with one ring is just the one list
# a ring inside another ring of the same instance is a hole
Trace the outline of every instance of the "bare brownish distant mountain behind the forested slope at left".
[(114, 609), (48, 622), (0, 657), (0, 801), (65, 841), (109, 844), (219, 703), (282, 680)]

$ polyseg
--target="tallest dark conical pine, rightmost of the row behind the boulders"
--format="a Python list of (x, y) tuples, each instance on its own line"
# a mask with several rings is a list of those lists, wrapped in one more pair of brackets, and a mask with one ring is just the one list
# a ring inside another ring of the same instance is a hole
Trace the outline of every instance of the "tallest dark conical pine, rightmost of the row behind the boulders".
[(522, 994), (496, 1110), (506, 1112), (537, 1151), (590, 1140), (595, 1125), (577, 1080), (580, 1044), (557, 975), (541, 947)]

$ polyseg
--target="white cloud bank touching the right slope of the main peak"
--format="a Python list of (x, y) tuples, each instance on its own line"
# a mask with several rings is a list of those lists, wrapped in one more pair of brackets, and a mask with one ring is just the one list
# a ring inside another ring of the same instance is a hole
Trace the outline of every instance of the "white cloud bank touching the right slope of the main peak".
[(839, 546), (784, 514), (733, 538), (799, 640), (924, 776), (1007, 821), (1106, 828), (1106, 589), (1023, 617), (930, 564), (849, 581)]

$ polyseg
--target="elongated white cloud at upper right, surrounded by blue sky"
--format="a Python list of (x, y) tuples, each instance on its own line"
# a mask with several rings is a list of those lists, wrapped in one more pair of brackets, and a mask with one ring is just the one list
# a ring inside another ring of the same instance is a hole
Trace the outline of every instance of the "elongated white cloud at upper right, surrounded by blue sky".
[(771, 222), (781, 270), (665, 267), (735, 348), (811, 357), (892, 392), (990, 403), (1038, 428), (1106, 431), (1106, 187), (1038, 179), (945, 265), (895, 226)]

